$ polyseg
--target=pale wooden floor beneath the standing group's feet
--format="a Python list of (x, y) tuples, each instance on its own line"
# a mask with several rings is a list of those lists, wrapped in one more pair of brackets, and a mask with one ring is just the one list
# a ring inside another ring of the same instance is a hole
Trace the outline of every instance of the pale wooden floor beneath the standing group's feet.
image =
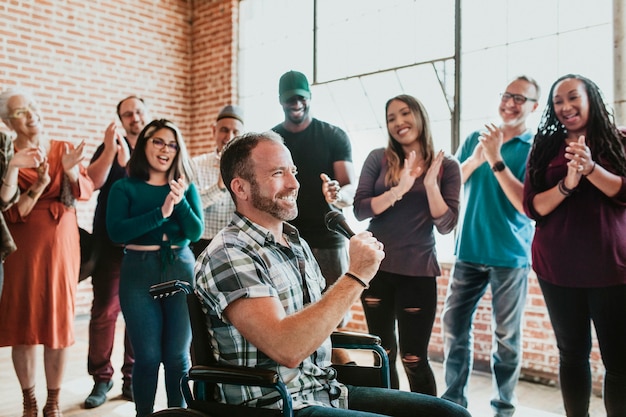
[[(76, 344), (70, 348), (68, 364), (65, 371), (64, 384), (61, 389), (61, 408), (65, 417), (134, 417), (135, 408), (132, 402), (121, 397), (122, 379), (119, 369), (122, 358), (122, 320), (118, 322), (116, 346), (113, 351), (115, 366), (114, 386), (109, 392), (108, 401), (101, 407), (86, 410), (83, 402), (91, 391), (93, 381), (87, 374), (87, 327), (88, 317), (76, 319)], [(41, 350), (43, 352), (43, 350)], [(43, 354), (38, 355), (37, 399), (40, 409), (46, 401), (45, 378), (41, 364)], [(358, 361), (358, 360), (357, 360)], [(437, 378), (437, 386), (441, 390), (444, 386), (443, 372), (440, 363), (433, 363), (433, 370)], [(159, 391), (157, 392), (156, 409), (165, 408), (166, 399), (161, 375)], [(406, 380), (401, 381), (401, 389), (407, 389)], [(469, 410), (474, 417), (489, 417), (492, 415), (489, 408), (491, 395), (491, 378), (485, 373), (472, 374), (469, 389)], [(517, 388), (519, 397), (516, 417), (555, 417), (563, 416), (563, 406), (558, 388), (521, 381)], [(606, 415), (602, 400), (592, 398), (590, 415)], [(13, 372), (10, 348), (0, 348), (0, 417), (20, 417), (22, 415), (22, 394)]]

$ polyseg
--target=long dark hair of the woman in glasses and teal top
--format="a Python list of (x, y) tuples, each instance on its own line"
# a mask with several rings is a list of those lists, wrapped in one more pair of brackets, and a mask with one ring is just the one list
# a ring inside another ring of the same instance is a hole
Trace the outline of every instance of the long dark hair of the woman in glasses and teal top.
[(146, 145), (148, 144), (148, 140), (161, 129), (171, 130), (172, 133), (174, 133), (178, 145), (178, 152), (176, 152), (174, 161), (167, 173), (168, 180), (177, 180), (181, 175), (184, 175), (185, 182), (187, 184), (192, 183), (195, 181), (196, 175), (191, 160), (189, 159), (189, 154), (187, 153), (183, 135), (180, 133), (180, 130), (178, 130), (178, 127), (167, 119), (153, 120), (143, 128), (137, 138), (135, 150), (128, 161), (128, 176), (139, 178), (143, 181), (150, 179), (150, 164), (146, 157)]

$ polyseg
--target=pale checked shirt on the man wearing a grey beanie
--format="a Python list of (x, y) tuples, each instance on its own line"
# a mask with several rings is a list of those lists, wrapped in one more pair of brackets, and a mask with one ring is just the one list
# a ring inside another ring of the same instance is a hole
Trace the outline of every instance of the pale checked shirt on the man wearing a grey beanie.
[(220, 160), (215, 152), (193, 158), (198, 173), (198, 191), (204, 209), (203, 239), (211, 240), (230, 222), (235, 203), (227, 190), (220, 190), (217, 179), (220, 175)]

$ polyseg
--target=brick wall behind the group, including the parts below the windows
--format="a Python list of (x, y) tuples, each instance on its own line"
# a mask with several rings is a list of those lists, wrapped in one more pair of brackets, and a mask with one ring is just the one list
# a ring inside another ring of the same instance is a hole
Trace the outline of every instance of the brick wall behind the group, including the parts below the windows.
[[(210, 125), (237, 101), (237, 0), (9, 0), (0, 3), (0, 90), (21, 85), (39, 97), (50, 137), (87, 142), (87, 156), (116, 118), (115, 105), (143, 96), (154, 117), (181, 128), (192, 154), (213, 147)], [(3, 126), (0, 124), (0, 129)], [(79, 205), (90, 229), (95, 196)], [(20, 256), (19, 252), (13, 256)], [(449, 266), (438, 279), (439, 314), (431, 357), (442, 358), (440, 313)], [(555, 383), (558, 352), (541, 291), (530, 277), (524, 322), (525, 378)], [(490, 296), (475, 321), (476, 368), (488, 370)], [(79, 314), (88, 314), (89, 280), (80, 284)], [(367, 329), (359, 305), (349, 327)], [(594, 388), (603, 367), (592, 353)]]

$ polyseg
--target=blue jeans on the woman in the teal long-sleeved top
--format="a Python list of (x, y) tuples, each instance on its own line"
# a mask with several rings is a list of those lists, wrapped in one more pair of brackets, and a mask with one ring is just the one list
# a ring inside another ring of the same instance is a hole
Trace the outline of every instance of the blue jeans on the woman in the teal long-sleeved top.
[(187, 301), (183, 294), (155, 300), (148, 292), (151, 285), (172, 279), (193, 282), (195, 260), (191, 249), (172, 252), (171, 262), (163, 262), (161, 251), (126, 250), (122, 260), (119, 297), (135, 353), (132, 385), (137, 417), (147, 416), (154, 409), (161, 363), (168, 407), (185, 407), (180, 379), (190, 367)]

